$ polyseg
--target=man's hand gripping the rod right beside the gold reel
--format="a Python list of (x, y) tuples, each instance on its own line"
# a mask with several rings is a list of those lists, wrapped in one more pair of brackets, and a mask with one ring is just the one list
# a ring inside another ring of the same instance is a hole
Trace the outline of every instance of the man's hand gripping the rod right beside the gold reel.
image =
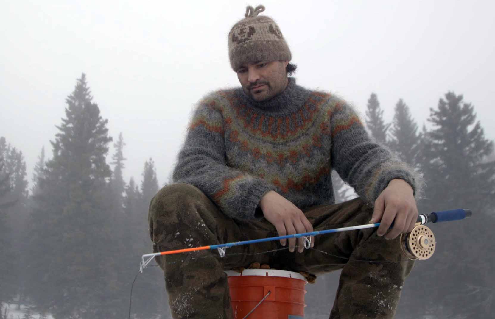
[[(418, 208), (411, 185), (403, 180), (392, 180), (375, 201), (371, 223), (378, 223), (379, 236), (394, 239), (401, 233), (411, 232), (418, 218)], [(390, 228), (394, 222), (394, 227)]]

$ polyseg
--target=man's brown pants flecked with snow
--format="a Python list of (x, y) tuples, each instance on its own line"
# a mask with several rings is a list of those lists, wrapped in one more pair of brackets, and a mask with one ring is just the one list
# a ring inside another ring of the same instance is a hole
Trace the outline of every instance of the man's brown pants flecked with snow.
[[(372, 213), (359, 198), (304, 211), (314, 230), (367, 224)], [(153, 252), (278, 235), (265, 219), (229, 218), (188, 184), (162, 188), (151, 200), (148, 221)], [(314, 248), (326, 253), (314, 249), (263, 253), (281, 247), (279, 241), (269, 241), (228, 248), (223, 258), (211, 250), (157, 257), (173, 318), (234, 318), (224, 270), (253, 262), (315, 275), (342, 269), (330, 318), (393, 318), (413, 266), (403, 256), (398, 237), (378, 237), (375, 228), (315, 236)]]

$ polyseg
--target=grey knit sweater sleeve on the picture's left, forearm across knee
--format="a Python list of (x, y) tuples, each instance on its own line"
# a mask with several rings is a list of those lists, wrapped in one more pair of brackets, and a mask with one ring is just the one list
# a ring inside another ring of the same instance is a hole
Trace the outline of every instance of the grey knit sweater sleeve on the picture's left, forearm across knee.
[(225, 215), (238, 219), (254, 219), (261, 197), (275, 190), (265, 180), (227, 165), (224, 122), (215, 93), (198, 104), (172, 178), (198, 187)]

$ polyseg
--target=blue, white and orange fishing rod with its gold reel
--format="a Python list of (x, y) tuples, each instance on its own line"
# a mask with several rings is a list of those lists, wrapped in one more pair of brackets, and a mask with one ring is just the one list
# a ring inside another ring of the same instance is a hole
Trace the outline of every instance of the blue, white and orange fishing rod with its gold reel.
[[(448, 210), (441, 212), (433, 212), (431, 214), (418, 215), (418, 218), (416, 220), (416, 225), (414, 226), (412, 231), (410, 233), (400, 235), (400, 247), (402, 249), (403, 254), (410, 260), (426, 260), (430, 258), (435, 252), (436, 241), (433, 231), (424, 225), (428, 223), (440, 223), (440, 222), (463, 220), (465, 218), (471, 217), (471, 215), (472, 212), (469, 209), (456, 209), (456, 210)], [(305, 239), (304, 247), (307, 249), (311, 244), (310, 240), (308, 239), (309, 236), (317, 236), (317, 235), (348, 231), (348, 230), (377, 228), (380, 226), (380, 224), (381, 223), (373, 223), (373, 224), (357, 225), (357, 226), (342, 227), (342, 228), (317, 230), (317, 231), (297, 233), (297, 234), (285, 235), (285, 236), (259, 238), (252, 240), (229, 242), (218, 245), (192, 247), (185, 249), (162, 251), (152, 254), (145, 254), (142, 256), (139, 270), (142, 273), (143, 270), (151, 262), (151, 260), (153, 260), (153, 258), (157, 256), (180, 254), (180, 253), (199, 251), (199, 250), (217, 249), (218, 253), (220, 254), (220, 257), (223, 257), (225, 256), (225, 250), (229, 247), (265, 242), (265, 241), (280, 240), (280, 239), (304, 238)], [(393, 225), (394, 224), (392, 224), (391, 227)]]

